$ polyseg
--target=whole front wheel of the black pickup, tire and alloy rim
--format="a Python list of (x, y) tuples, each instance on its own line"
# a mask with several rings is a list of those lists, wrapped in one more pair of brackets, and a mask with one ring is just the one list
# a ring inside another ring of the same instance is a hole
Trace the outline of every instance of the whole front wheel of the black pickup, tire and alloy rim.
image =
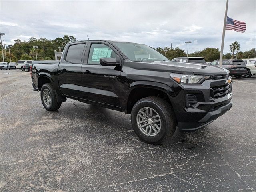
[(134, 105), (131, 114), (136, 135), (149, 144), (162, 144), (176, 130), (176, 117), (172, 106), (162, 98), (146, 97)]

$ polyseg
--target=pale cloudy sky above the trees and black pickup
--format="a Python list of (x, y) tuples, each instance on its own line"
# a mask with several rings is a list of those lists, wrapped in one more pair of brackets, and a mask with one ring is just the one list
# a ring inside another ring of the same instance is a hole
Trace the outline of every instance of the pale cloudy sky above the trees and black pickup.
[[(6, 44), (30, 37), (109, 39), (169, 46), (189, 52), (220, 48), (226, 0), (0, 0)], [(245, 21), (244, 33), (226, 30), (224, 53), (237, 40), (256, 47), (256, 0), (229, 0), (228, 16)]]

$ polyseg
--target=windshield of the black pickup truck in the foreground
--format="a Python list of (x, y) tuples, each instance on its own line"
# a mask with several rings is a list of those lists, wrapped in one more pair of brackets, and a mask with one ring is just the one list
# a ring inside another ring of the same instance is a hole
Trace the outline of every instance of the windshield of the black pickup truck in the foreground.
[(168, 58), (151, 48), (150, 46), (126, 43), (126, 42), (114, 42), (116, 46), (129, 58), (135, 62), (153, 62), (153, 61), (169, 61)]

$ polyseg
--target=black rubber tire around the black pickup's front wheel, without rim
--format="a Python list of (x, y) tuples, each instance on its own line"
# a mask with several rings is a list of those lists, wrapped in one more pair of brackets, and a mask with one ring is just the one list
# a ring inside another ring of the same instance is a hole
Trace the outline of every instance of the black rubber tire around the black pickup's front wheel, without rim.
[[(137, 124), (137, 114), (140, 109), (150, 107), (154, 109), (160, 116), (161, 119), (161, 129), (155, 136), (146, 136)], [(133, 106), (131, 113), (132, 127), (136, 135), (144, 142), (148, 144), (159, 145), (163, 144), (167, 139), (169, 139), (176, 130), (176, 116), (172, 109), (172, 106), (162, 98), (158, 97), (146, 97)]]

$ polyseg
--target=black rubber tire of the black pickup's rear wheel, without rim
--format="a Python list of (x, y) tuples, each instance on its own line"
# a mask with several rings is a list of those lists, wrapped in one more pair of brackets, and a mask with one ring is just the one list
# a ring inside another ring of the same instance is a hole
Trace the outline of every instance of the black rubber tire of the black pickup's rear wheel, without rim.
[[(48, 91), (50, 92), (50, 96), (51, 96), (51, 104), (49, 106), (47, 106), (45, 104), (44, 99), (43, 99), (43, 92), (45, 89), (48, 89)], [(48, 111), (56, 111), (60, 108), (60, 106), (62, 104), (61, 102), (57, 102), (57, 98), (55, 96), (54, 89), (52, 88), (51, 83), (43, 84), (43, 86), (41, 88), (41, 101), (42, 101), (44, 108)]]

